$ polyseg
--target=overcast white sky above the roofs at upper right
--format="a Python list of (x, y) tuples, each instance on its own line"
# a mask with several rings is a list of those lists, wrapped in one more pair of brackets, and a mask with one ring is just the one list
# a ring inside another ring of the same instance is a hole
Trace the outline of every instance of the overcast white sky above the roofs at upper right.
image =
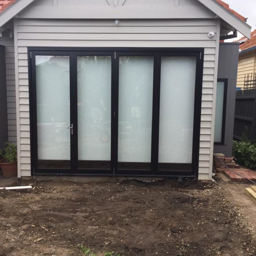
[[(256, 29), (256, 0), (223, 0), (229, 7), (235, 10), (237, 13), (248, 18), (247, 23), (252, 27), (252, 31)], [(227, 41), (234, 41), (241, 38), (243, 35), (238, 33), (236, 39), (230, 39)]]

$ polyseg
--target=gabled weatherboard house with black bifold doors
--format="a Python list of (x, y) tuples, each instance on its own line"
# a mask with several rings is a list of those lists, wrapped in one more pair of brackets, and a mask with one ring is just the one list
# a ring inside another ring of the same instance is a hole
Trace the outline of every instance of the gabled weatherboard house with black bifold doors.
[(221, 0), (0, 0), (0, 8), (19, 177), (211, 180), (213, 147), (224, 152), (232, 141), (224, 130), (233, 128), (239, 46), (220, 40), (250, 38), (244, 17)]

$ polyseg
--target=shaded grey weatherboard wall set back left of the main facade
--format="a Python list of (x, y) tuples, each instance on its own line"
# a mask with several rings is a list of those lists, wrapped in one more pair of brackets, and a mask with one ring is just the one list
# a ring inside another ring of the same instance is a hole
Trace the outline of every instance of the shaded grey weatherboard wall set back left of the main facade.
[(16, 97), (15, 97), (15, 65), (14, 65), (14, 41), (9, 32), (2, 33), (0, 45), (6, 46), (6, 90), (7, 90), (7, 121), (8, 141), (17, 143), (16, 129)]

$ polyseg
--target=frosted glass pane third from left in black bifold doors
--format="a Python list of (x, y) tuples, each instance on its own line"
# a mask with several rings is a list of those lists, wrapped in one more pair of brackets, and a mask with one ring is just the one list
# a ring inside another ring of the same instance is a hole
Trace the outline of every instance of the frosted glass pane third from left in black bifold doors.
[(151, 161), (153, 66), (153, 57), (119, 58), (119, 162)]

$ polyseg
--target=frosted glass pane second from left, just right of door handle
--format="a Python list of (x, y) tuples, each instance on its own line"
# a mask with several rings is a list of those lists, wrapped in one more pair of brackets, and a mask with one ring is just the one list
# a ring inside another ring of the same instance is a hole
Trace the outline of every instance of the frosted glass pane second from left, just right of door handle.
[(110, 168), (111, 56), (78, 57), (77, 65), (79, 168)]

